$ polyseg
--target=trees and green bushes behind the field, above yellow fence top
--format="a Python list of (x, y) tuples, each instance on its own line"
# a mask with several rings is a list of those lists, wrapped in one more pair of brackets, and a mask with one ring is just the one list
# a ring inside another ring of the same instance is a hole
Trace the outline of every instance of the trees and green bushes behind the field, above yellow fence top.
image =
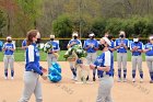
[(94, 32), (97, 37), (120, 30), (127, 36), (153, 33), (153, 0), (0, 0), (0, 37), (25, 37), (31, 29), (43, 37), (81, 37)]

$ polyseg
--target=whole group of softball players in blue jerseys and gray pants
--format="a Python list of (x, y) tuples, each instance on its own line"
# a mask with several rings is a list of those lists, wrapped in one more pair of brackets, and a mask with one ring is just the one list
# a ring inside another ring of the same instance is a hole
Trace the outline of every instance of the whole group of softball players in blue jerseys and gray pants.
[[(95, 34), (90, 33), (86, 41), (84, 41), (83, 48), (87, 53), (87, 64), (90, 68), (93, 69), (93, 81), (96, 80), (96, 69), (97, 76), (99, 78), (99, 88), (96, 102), (113, 102), (110, 90), (114, 84), (114, 50), (117, 50), (117, 63), (118, 63), (118, 82), (126, 82), (127, 79), (127, 53), (130, 47), (132, 54), (132, 81), (136, 81), (137, 67), (140, 72), (140, 82), (143, 82), (143, 70), (142, 70), (142, 53), (145, 53), (145, 59), (149, 67), (149, 72), (151, 77), (150, 83), (153, 83), (153, 35), (149, 37), (149, 43), (143, 46), (143, 43), (139, 41), (139, 36), (133, 37), (133, 42), (129, 44), (129, 39), (126, 38), (123, 31), (119, 32), (119, 38), (115, 42), (111, 36), (106, 33), (101, 41), (96, 41)], [(19, 102), (28, 102), (31, 95), (34, 93), (36, 97), (36, 102), (43, 102), (42, 98), (42, 87), (38, 80), (39, 76), (43, 79), (47, 79), (46, 69), (39, 65), (39, 52), (36, 46), (40, 41), (40, 34), (37, 30), (32, 30), (27, 32), (26, 39), (22, 43), (22, 48), (25, 49), (25, 72), (24, 72), (24, 90), (23, 95)], [(48, 42), (52, 45), (52, 49), (48, 52), (47, 60), (48, 68), (51, 66), (52, 61), (57, 61), (55, 53), (60, 50), (59, 44), (55, 42), (55, 35), (50, 35), (50, 41)], [(73, 47), (73, 45), (79, 44), (82, 46), (79, 39), (79, 34), (74, 32), (72, 34), (72, 39), (68, 44), (68, 48)], [(97, 56), (97, 50), (102, 50), (102, 54)], [(8, 67), (11, 68), (11, 79), (14, 77), (14, 57), (13, 53), (15, 50), (15, 45), (12, 43), (11, 36), (7, 37), (7, 43), (3, 45), (4, 52), (4, 79), (8, 79)], [(76, 68), (73, 63), (70, 61), (70, 69), (72, 71), (72, 79), (76, 80)], [(123, 71), (123, 78), (121, 78), (121, 72)], [(86, 77), (90, 80), (90, 76)]]

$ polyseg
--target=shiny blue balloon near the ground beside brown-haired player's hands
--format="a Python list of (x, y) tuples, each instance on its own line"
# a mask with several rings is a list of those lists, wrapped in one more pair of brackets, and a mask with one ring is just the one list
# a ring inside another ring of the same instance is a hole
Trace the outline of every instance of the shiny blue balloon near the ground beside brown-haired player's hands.
[(58, 82), (62, 79), (61, 77), (61, 67), (57, 63), (52, 63), (52, 66), (49, 68), (48, 79), (51, 82)]

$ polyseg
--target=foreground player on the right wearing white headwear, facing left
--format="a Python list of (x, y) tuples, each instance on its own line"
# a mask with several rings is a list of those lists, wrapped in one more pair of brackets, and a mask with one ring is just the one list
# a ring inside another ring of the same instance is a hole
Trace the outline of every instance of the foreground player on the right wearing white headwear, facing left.
[(91, 69), (101, 70), (99, 87), (96, 102), (113, 102), (111, 88), (114, 84), (113, 79), (113, 53), (109, 50), (110, 41), (107, 37), (101, 39), (101, 50), (103, 53), (97, 57), (94, 64), (91, 64)]

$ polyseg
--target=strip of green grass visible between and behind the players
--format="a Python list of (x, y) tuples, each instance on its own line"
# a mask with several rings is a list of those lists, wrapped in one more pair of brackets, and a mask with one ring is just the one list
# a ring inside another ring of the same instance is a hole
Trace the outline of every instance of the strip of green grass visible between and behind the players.
[[(59, 52), (59, 61), (64, 61), (66, 59), (63, 58), (63, 54), (66, 53), (66, 50), (60, 50)], [(97, 55), (99, 55), (102, 52), (98, 50)], [(114, 56), (115, 56), (115, 60), (117, 58), (117, 53), (115, 52), (114, 53)], [(16, 50), (14, 53), (14, 58), (15, 58), (15, 61), (24, 61), (24, 50)], [(47, 54), (44, 53), (44, 52), (40, 52), (40, 60), (42, 61), (46, 61), (47, 59)], [(142, 59), (143, 61), (145, 60), (145, 54), (142, 54)], [(0, 53), (0, 61), (3, 60), (3, 53)], [(128, 52), (128, 61), (131, 61), (131, 53)]]

